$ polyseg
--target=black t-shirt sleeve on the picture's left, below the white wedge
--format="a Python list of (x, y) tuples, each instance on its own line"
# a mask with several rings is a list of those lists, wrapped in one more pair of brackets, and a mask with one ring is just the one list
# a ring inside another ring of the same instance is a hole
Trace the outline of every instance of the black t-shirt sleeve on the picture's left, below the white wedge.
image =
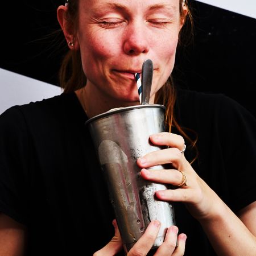
[(18, 107), (0, 115), (0, 212), (25, 224), (31, 143)]

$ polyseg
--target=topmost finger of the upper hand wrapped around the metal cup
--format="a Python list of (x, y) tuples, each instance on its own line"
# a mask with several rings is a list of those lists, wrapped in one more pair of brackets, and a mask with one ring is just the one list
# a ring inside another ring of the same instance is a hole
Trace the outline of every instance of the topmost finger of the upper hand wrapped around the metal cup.
[(159, 146), (176, 147), (183, 150), (185, 141), (182, 136), (174, 133), (157, 133), (150, 136), (150, 141)]

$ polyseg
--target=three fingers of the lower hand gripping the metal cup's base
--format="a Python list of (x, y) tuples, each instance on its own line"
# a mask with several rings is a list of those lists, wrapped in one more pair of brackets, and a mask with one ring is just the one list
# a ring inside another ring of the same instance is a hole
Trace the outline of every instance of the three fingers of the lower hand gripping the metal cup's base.
[[(143, 236), (139, 238), (135, 245), (130, 249), (127, 256), (147, 255), (148, 251), (150, 251), (152, 245), (154, 244), (159, 229), (160, 222), (151, 221)], [(168, 228), (164, 242), (156, 250), (154, 254), (155, 256), (184, 255), (185, 241), (187, 236), (185, 234), (179, 234), (179, 236), (177, 236), (177, 232), (178, 229), (176, 226), (170, 226), (170, 228)], [(177, 247), (176, 243), (178, 244)]]

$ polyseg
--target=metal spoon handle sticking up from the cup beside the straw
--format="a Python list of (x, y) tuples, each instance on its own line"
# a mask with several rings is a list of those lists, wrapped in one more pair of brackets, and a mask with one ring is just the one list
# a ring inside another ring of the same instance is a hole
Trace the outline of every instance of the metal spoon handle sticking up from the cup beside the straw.
[(150, 91), (153, 79), (153, 63), (152, 60), (146, 59), (142, 65), (142, 94), (141, 94), (141, 104), (149, 104)]

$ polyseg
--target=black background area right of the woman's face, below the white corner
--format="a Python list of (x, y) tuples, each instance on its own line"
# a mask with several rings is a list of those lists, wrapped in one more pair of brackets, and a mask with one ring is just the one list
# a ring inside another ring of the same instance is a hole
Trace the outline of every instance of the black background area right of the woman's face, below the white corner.
[(195, 1), (193, 16), (194, 43), (177, 55), (176, 80), (224, 93), (256, 116), (256, 19)]

